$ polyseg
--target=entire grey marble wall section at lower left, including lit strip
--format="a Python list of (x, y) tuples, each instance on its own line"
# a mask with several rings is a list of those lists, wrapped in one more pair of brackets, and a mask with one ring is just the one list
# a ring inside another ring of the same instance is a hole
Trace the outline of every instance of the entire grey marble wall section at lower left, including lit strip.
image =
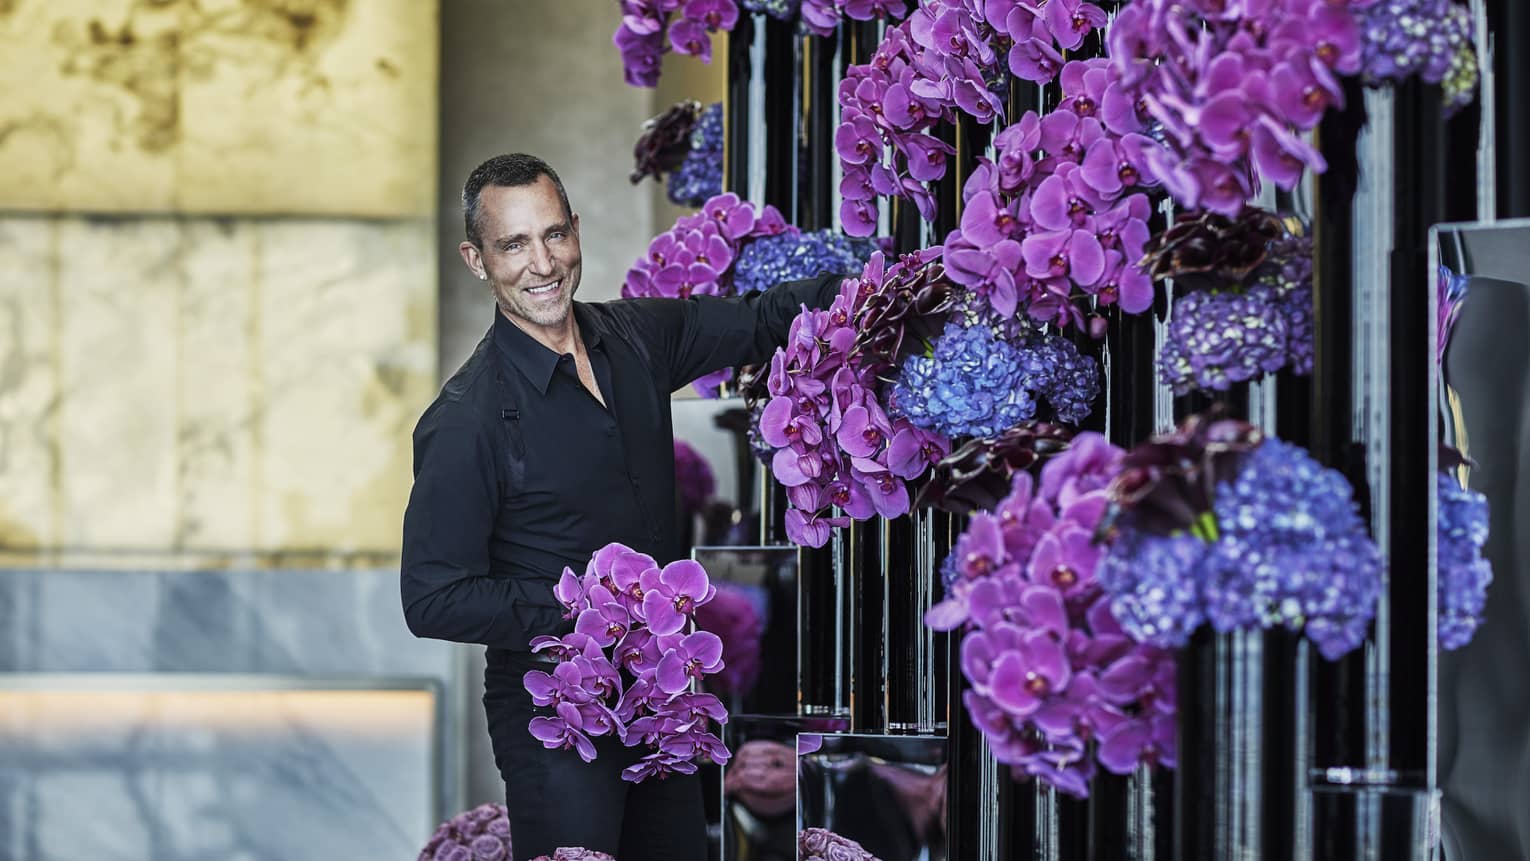
[(461, 647), (379, 570), (0, 572), (0, 859), (413, 858)]

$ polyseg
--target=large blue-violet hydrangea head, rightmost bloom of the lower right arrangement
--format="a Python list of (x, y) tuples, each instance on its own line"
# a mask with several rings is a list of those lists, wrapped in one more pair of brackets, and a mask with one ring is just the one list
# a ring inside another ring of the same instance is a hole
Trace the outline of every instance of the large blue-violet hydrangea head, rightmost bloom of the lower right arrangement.
[(1288, 442), (1250, 453), (1212, 502), (1224, 544), (1212, 563), (1236, 569), (1207, 587), (1213, 622), (1302, 627), (1330, 661), (1359, 647), (1382, 593), (1382, 554), (1353, 495), (1342, 474)]

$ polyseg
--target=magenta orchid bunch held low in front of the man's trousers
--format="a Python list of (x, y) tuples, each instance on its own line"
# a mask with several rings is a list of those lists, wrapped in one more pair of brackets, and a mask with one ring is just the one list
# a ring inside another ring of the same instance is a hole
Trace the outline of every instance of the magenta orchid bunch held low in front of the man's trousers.
[(583, 577), (563, 569), (554, 595), (574, 632), (532, 639), (532, 651), (558, 664), (551, 673), (525, 674), (532, 702), (554, 711), (528, 726), (543, 746), (569, 748), (591, 762), (591, 737), (647, 745), (653, 752), (621, 772), (635, 783), (693, 774), (696, 757), (728, 762), (728, 749), (708, 731), (708, 720), (727, 722), (727, 710), (716, 696), (690, 691), (692, 682), (722, 670), (722, 641), (695, 630), (698, 607), (716, 595), (701, 564), (681, 560), (661, 569), (652, 557), (612, 543), (595, 552)]

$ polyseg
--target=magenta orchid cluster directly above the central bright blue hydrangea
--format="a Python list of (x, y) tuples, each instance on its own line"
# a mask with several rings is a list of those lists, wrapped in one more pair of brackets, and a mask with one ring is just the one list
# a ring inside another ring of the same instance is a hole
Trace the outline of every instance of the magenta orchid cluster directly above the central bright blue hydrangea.
[(1082, 326), (1080, 304), (1152, 306), (1138, 262), (1155, 144), (1109, 61), (1063, 66), (1062, 95), (1056, 110), (1027, 112), (994, 136), (996, 161), (982, 159), (967, 179), (961, 225), (946, 237), (950, 278), (1004, 320), (1024, 309)]

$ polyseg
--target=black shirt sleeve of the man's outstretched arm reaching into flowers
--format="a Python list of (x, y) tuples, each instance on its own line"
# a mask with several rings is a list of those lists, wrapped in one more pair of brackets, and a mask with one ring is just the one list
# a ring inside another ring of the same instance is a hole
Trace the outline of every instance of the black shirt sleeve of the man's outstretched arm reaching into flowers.
[(715, 370), (768, 359), (786, 343), (802, 307), (828, 307), (843, 280), (845, 275), (820, 275), (744, 297), (635, 303), (649, 317), (658, 352), (669, 358), (670, 388), (679, 388)]

